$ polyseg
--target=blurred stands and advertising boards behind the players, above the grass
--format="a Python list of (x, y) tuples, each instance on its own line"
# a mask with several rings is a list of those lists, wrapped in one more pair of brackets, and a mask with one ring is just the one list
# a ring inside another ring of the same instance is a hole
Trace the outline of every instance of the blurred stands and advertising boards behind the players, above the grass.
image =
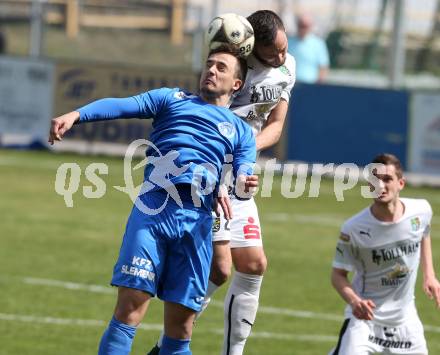
[[(264, 8), (283, 18), (298, 75), (284, 137), (268, 154), (364, 165), (388, 151), (409, 171), (440, 172), (438, 0), (0, 0), (2, 145), (38, 146), (50, 117), (99, 97), (197, 91), (210, 19)], [(311, 57), (292, 42), (303, 15), (326, 46), (319, 80), (302, 79)], [(117, 151), (149, 130), (77, 127), (69, 138), (86, 147), (66, 140), (58, 149), (112, 149), (99, 142)]]

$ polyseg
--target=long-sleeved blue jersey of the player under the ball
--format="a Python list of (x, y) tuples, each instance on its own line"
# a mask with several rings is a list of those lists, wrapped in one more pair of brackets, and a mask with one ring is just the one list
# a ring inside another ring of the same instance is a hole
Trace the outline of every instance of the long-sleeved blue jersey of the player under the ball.
[[(166, 175), (166, 184), (217, 186), (225, 157), (233, 155), (234, 176), (252, 174), (256, 159), (250, 127), (225, 107), (203, 101), (178, 88), (162, 88), (123, 99), (102, 99), (79, 110), (80, 122), (117, 118), (152, 118), (145, 181)], [(150, 185), (149, 185), (150, 186)], [(150, 190), (166, 186), (150, 187)], [(213, 189), (214, 190), (214, 189)], [(211, 200), (212, 194), (208, 200)], [(210, 201), (203, 201), (207, 206)]]

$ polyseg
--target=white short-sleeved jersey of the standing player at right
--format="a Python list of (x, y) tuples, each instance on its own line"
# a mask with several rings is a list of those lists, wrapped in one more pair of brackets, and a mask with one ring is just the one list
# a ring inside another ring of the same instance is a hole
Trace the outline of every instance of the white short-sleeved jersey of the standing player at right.
[[(333, 267), (354, 271), (353, 289), (376, 304), (374, 321), (397, 325), (416, 312), (414, 287), (422, 238), (429, 235), (432, 209), (421, 199), (400, 199), (405, 206), (397, 222), (376, 219), (370, 207), (341, 229)], [(352, 316), (347, 306), (345, 315)]]

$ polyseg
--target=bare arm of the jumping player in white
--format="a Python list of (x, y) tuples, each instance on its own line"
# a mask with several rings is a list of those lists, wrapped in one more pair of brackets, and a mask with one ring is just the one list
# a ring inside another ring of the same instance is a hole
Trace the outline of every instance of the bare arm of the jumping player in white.
[(288, 108), (289, 103), (281, 99), (272, 109), (266, 124), (256, 137), (257, 150), (267, 149), (280, 140)]

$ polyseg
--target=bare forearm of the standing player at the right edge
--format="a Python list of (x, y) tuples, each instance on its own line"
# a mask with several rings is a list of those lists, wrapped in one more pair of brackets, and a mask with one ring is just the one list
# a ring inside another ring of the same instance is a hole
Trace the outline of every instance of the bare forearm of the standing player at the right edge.
[(429, 234), (422, 238), (420, 258), (423, 271), (423, 291), (425, 291), (430, 299), (434, 299), (437, 307), (440, 308), (440, 282), (435, 276), (431, 237)]

